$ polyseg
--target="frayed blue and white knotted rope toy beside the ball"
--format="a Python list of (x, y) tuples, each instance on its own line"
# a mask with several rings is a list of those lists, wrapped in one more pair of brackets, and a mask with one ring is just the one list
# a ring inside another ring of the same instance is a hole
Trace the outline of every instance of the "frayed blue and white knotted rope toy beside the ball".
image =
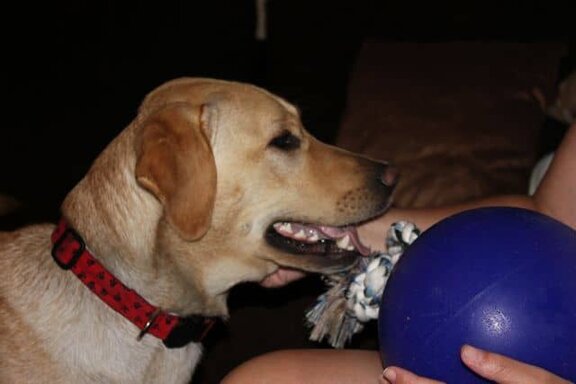
[(307, 325), (312, 328), (309, 339), (327, 339), (332, 347), (343, 348), (365, 323), (377, 319), (390, 273), (419, 235), (413, 223), (398, 221), (388, 229), (386, 252), (359, 258), (349, 271), (324, 276), (329, 288), (306, 313)]

